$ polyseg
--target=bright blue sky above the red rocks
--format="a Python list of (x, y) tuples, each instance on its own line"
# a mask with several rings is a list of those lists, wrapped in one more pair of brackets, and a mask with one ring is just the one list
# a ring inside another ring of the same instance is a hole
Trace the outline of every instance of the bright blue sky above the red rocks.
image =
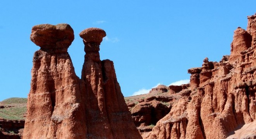
[(187, 69), (208, 57), (230, 54), (234, 30), (246, 29), (256, 0), (1, 0), (0, 100), (27, 97), (37, 24), (70, 24), (75, 39), (68, 49), (81, 76), (84, 45), (79, 33), (88, 27), (106, 31), (100, 58), (114, 61), (124, 96), (158, 83), (187, 80)]

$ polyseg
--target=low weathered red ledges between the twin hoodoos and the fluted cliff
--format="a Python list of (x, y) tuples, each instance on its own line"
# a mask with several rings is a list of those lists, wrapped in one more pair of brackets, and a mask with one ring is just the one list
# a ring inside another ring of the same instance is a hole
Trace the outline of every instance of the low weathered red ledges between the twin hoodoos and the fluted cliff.
[[(189, 84), (159, 85), (147, 94), (125, 98), (133, 121), (142, 137), (148, 136), (156, 123), (170, 112), (174, 102), (190, 95), (189, 87)], [(190, 101), (191, 97), (187, 99)]]

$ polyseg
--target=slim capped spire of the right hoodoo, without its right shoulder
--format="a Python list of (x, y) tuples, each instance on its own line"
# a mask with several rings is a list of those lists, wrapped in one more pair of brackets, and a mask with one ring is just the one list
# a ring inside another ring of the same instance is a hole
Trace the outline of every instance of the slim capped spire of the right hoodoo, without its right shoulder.
[[(86, 107), (87, 138), (113, 138), (106, 115), (103, 76), (100, 61), (100, 43), (106, 32), (98, 28), (82, 31), (80, 37), (85, 44), (85, 63), (81, 75), (81, 92)], [(103, 132), (104, 131), (104, 132)]]

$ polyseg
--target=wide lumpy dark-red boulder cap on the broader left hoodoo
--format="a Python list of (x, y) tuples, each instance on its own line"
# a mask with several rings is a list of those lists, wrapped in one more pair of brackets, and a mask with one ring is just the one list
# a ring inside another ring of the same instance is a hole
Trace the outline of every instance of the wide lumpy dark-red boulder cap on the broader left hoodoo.
[(68, 48), (74, 40), (69, 24), (41, 24), (32, 27), (30, 39), (41, 49)]

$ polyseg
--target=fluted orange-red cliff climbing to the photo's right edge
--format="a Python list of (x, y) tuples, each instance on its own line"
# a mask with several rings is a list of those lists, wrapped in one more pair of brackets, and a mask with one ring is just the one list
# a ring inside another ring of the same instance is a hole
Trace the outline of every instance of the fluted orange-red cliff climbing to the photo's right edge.
[[(177, 100), (144, 138), (232, 138), (235, 130), (255, 122), (256, 15), (248, 17), (247, 30), (238, 27), (234, 31), (230, 56), (223, 56), (219, 63), (206, 58), (202, 68), (188, 72), (192, 99)], [(250, 134), (246, 136), (256, 137), (256, 131)], [(239, 138), (246, 136), (239, 134)]]

